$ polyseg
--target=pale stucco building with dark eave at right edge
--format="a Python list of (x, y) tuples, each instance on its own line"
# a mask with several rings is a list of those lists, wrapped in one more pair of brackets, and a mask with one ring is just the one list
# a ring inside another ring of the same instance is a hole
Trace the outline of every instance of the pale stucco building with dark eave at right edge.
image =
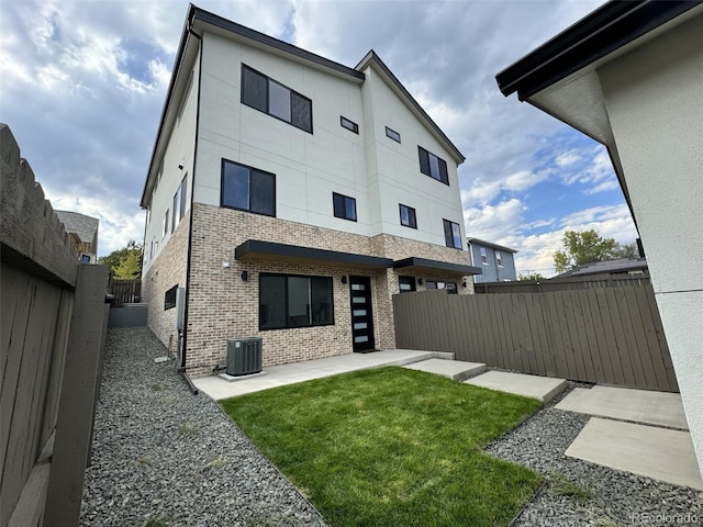
[(609, 2), (496, 79), (607, 147), (703, 473), (703, 3)]

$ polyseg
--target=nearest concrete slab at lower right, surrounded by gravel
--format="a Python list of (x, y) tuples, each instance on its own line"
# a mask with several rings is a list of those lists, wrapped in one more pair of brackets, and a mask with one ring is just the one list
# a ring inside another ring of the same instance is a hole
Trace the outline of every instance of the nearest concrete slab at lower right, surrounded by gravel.
[(592, 417), (566, 455), (703, 491), (691, 434)]

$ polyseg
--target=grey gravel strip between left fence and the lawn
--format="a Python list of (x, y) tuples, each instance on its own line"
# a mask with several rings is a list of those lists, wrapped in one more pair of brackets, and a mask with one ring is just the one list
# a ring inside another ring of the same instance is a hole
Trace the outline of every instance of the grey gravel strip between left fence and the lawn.
[[(145, 327), (111, 328), (81, 526), (324, 526)], [(161, 523), (156, 523), (160, 519)]]

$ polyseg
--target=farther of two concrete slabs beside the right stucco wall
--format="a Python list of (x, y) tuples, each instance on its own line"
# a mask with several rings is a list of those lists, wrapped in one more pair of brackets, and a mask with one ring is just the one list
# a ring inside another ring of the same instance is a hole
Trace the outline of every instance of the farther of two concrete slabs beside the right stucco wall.
[(577, 388), (563, 397), (556, 408), (598, 417), (689, 429), (681, 395), (678, 393), (599, 385), (590, 390)]

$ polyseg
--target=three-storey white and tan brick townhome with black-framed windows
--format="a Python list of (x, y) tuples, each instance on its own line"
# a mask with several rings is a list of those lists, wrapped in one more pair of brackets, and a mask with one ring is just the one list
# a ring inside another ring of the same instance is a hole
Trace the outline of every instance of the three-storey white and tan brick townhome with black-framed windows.
[(141, 202), (149, 327), (191, 377), (237, 338), (264, 367), (394, 347), (393, 294), (480, 272), (462, 161), (372, 51), (352, 68), (190, 5)]

